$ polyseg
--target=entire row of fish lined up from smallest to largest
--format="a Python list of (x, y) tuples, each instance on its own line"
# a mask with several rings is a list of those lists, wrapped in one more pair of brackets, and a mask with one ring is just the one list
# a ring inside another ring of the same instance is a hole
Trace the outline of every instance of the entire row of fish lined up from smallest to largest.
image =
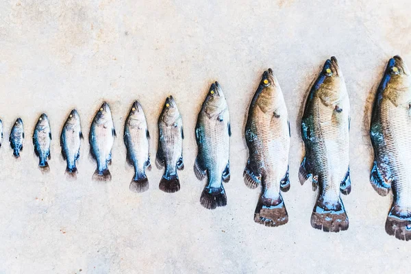
[[(349, 227), (340, 193), (351, 192), (349, 170), (350, 105), (343, 73), (335, 57), (327, 60), (316, 79), (301, 121), (305, 155), (299, 169), (299, 181), (311, 179), (312, 190), (319, 188), (311, 225), (325, 232), (339, 232)], [(1, 123), (0, 123), (1, 124)], [(2, 130), (2, 126), (0, 127)], [(386, 232), (401, 240), (411, 238), (411, 76), (408, 67), (397, 55), (388, 61), (377, 90), (371, 119), (371, 142), (374, 162), (371, 184), (379, 195), (390, 190), (393, 206), (386, 220)], [(159, 188), (176, 192), (180, 188), (177, 170), (184, 169), (182, 117), (172, 96), (167, 97), (158, 119), (158, 151), (155, 164), (164, 167)], [(214, 209), (227, 204), (223, 182), (229, 182), (229, 111), (218, 82), (211, 85), (197, 117), (195, 138), (198, 153), (194, 164), (199, 180), (207, 177), (200, 197), (202, 206)], [(1, 134), (2, 135), (2, 134)], [(97, 163), (92, 175), (96, 181), (109, 181), (108, 165), (116, 131), (110, 107), (103, 103), (90, 126), (90, 155)], [(17, 119), (10, 133), (15, 157), (23, 149), (23, 121)], [(46, 114), (36, 124), (33, 142), (41, 169), (49, 169), (51, 130)], [(79, 114), (73, 110), (62, 129), (60, 145), (67, 162), (66, 173), (75, 177), (76, 161), (83, 138)], [(149, 130), (145, 113), (134, 102), (124, 126), (127, 162), (134, 166), (130, 190), (143, 192), (149, 188), (146, 169), (151, 169)], [(245, 126), (249, 158), (243, 173), (249, 188), (262, 185), (254, 221), (276, 227), (288, 222), (282, 192), (290, 189), (288, 153), (290, 124), (282, 90), (273, 71), (264, 71), (249, 106)]]

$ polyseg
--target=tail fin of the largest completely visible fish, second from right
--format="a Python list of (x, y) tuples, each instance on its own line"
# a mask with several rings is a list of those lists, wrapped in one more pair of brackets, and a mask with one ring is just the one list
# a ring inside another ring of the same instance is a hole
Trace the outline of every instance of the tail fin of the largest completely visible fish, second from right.
[(323, 229), (324, 232), (340, 232), (340, 230), (347, 230), (348, 225), (348, 216), (341, 199), (335, 203), (330, 203), (324, 201), (323, 197), (319, 197), (314, 210), (312, 210), (312, 227)]

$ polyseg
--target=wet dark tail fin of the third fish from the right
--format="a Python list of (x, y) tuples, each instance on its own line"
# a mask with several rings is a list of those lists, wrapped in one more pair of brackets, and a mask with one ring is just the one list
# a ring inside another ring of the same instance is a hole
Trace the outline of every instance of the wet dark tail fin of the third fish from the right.
[(254, 221), (266, 227), (277, 227), (288, 223), (288, 213), (282, 196), (279, 195), (276, 200), (260, 197), (254, 212)]

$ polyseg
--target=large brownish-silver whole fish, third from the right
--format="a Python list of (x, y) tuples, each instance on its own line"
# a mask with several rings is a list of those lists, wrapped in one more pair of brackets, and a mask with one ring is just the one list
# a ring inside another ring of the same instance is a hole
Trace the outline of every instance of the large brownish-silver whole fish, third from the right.
[(269, 227), (284, 225), (288, 213), (281, 192), (290, 189), (290, 123), (282, 89), (272, 69), (262, 74), (251, 101), (245, 140), (249, 149), (243, 173), (245, 184), (249, 188), (262, 184), (254, 221)]

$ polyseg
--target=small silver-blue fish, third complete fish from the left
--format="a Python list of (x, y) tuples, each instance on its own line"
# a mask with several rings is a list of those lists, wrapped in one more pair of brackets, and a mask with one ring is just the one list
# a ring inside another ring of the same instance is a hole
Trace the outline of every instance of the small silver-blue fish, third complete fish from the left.
[(60, 147), (62, 148), (63, 159), (67, 162), (66, 175), (69, 178), (76, 177), (77, 166), (75, 162), (80, 157), (82, 139), (83, 134), (80, 116), (77, 110), (71, 110), (60, 134)]

